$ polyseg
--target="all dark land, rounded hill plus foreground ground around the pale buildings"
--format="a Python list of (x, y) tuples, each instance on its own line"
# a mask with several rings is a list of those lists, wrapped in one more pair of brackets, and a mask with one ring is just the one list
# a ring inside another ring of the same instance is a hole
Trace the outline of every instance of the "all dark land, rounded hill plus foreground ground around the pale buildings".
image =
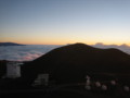
[[(4, 70), (0, 69), (1, 77)], [(48, 86), (32, 86), (39, 74), (49, 74)], [(89, 87), (87, 75), (90, 76)], [(96, 82), (101, 85), (96, 86)], [(22, 77), (1, 78), (2, 97), (130, 98), (130, 56), (117, 49), (99, 49), (84, 44), (64, 46), (22, 65)]]

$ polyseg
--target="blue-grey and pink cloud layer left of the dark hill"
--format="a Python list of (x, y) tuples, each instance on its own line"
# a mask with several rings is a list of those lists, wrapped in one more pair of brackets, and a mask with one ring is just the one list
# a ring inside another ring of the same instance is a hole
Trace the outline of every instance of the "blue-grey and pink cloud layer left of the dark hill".
[(0, 47), (0, 60), (31, 61), (60, 46), (31, 45)]

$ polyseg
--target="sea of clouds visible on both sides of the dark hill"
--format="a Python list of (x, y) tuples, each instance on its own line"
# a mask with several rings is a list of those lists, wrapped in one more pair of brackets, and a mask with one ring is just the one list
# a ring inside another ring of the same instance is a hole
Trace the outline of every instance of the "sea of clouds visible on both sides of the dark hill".
[[(127, 45), (103, 45), (101, 42), (92, 45), (96, 48), (117, 48), (130, 54), (130, 46)], [(62, 46), (54, 45), (27, 45), (27, 46), (2, 46), (0, 47), (0, 60), (10, 61), (31, 61), (42, 54)]]

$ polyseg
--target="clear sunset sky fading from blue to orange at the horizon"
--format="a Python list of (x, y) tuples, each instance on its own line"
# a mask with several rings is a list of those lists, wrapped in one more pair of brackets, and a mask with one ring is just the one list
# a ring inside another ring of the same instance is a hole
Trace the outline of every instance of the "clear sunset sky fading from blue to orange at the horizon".
[(130, 0), (0, 0), (0, 41), (130, 45)]

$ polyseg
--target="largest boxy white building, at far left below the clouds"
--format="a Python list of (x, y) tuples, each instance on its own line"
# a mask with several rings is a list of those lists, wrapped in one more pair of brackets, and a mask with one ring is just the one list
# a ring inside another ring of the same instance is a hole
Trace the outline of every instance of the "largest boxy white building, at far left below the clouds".
[(8, 62), (6, 63), (6, 77), (9, 78), (16, 78), (21, 77), (21, 64), (22, 62)]

